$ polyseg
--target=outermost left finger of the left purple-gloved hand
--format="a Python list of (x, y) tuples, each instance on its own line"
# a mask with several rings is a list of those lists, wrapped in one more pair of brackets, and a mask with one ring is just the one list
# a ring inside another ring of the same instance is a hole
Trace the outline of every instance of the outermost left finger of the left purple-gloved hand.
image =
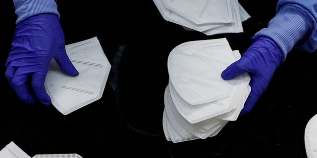
[(23, 71), (17, 69), (11, 80), (11, 87), (20, 100), (27, 104), (34, 104), (36, 102), (36, 98), (33, 93), (28, 91), (27, 87), (27, 80), (29, 77), (29, 74), (24, 74)]

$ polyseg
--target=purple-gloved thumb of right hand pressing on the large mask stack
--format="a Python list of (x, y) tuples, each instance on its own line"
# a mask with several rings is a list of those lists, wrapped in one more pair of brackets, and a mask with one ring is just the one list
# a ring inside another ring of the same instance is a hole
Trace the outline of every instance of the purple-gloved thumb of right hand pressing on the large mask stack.
[(236, 62), (229, 65), (224, 71), (221, 73), (221, 77), (224, 80), (234, 79), (244, 73), (248, 72), (248, 63), (250, 60), (248, 58), (244, 58), (243, 56), (237, 60)]

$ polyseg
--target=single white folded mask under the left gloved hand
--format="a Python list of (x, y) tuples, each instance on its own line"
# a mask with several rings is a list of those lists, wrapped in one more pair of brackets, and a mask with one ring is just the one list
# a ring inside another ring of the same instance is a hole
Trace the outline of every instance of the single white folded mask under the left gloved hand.
[(68, 44), (65, 48), (79, 75), (65, 75), (52, 60), (45, 81), (53, 106), (63, 115), (99, 100), (111, 68), (97, 37)]

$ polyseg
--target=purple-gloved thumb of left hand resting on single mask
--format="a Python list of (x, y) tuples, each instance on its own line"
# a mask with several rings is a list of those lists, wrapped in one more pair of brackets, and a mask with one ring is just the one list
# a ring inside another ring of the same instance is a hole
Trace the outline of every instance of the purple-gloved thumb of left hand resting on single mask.
[[(65, 50), (64, 50), (65, 51)], [(59, 55), (57, 58), (55, 58), (56, 63), (60, 67), (60, 69), (70, 76), (77, 76), (79, 75), (79, 72), (76, 70), (75, 66), (71, 63), (69, 60), (66, 51), (64, 55)]]

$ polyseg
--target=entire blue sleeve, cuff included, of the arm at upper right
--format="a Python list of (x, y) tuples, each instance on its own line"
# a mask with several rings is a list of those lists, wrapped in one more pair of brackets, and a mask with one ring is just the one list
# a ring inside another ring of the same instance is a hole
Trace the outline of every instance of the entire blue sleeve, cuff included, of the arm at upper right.
[(268, 37), (280, 47), (284, 60), (293, 47), (313, 52), (317, 49), (317, 0), (279, 0), (276, 14), (267, 28), (253, 40)]

